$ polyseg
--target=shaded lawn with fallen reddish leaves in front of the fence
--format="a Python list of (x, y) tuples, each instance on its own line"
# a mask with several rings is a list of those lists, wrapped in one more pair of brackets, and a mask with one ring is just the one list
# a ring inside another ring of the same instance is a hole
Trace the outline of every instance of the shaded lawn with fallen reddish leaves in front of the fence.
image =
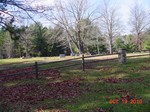
[[(36, 60), (43, 61), (44, 59), (37, 58)], [(16, 62), (16, 60), (14, 59), (11, 62)], [(7, 61), (1, 62), (1, 64), (6, 63)], [(70, 63), (79, 62), (72, 61)], [(64, 64), (68, 63), (47, 65), (44, 68)], [(31, 103), (31, 99), (29, 99), (28, 103), (31, 107), (23, 102), (21, 104), (18, 101), (15, 101), (15, 103), (10, 102), (7, 104), (9, 108), (7, 110), (12, 112), (19, 112), (22, 109), (33, 112), (40, 112), (41, 110), (45, 112), (150, 111), (150, 58), (148, 56), (128, 59), (126, 64), (118, 64), (117, 60), (114, 60), (88, 64), (86, 68), (85, 72), (81, 70), (81, 66), (59, 69), (60, 77), (53, 79), (51, 77), (40, 77), (39, 80), (24, 79), (1, 83), (0, 92), (2, 92), (2, 89), (7, 88), (10, 91), (12, 89), (13, 92), (14, 88), (14, 90), (17, 90), (17, 86), (29, 84), (40, 86), (40, 90), (34, 91), (34, 94), (46, 89), (53, 92), (51, 98), (44, 98), (36, 103)], [(19, 96), (21, 92), (16, 94)], [(33, 93), (26, 94), (32, 96)], [(123, 99), (127, 102), (122, 102)], [(1, 110), (5, 107), (2, 100), (0, 101)], [(110, 102), (112, 100), (116, 102), (112, 104)], [(133, 100), (134, 102), (132, 102)]]

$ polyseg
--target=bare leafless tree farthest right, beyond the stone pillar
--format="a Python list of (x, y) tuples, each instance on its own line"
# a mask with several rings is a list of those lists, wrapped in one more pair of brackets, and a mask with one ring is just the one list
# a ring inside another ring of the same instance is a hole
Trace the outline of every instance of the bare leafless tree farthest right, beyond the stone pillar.
[(143, 31), (149, 27), (149, 14), (142, 5), (136, 3), (130, 10), (129, 24), (132, 27), (132, 32), (136, 34), (136, 45), (138, 50), (142, 49)]

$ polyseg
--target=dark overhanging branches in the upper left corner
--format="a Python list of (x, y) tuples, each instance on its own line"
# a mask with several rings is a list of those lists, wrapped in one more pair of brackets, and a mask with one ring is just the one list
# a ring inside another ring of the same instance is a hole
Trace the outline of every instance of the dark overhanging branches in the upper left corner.
[(50, 7), (43, 5), (32, 5), (36, 0), (0, 0), (0, 26), (7, 27), (10, 21), (20, 19), (32, 19), (32, 14), (44, 13)]

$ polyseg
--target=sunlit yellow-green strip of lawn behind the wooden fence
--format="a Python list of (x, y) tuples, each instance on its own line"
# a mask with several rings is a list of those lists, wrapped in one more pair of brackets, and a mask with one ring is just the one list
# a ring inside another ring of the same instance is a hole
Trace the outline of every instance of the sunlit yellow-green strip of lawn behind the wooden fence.
[[(144, 55), (149, 53), (128, 53), (127, 56), (134, 56), (134, 55)], [(87, 55), (85, 55), (87, 56)], [(33, 58), (27, 58), (27, 59), (20, 59), (20, 58), (11, 58), (11, 59), (0, 59), (0, 70), (5, 68), (11, 68), (11, 67), (20, 67), (20, 66), (28, 66), (33, 65), (35, 61), (38, 63), (46, 63), (46, 62), (53, 62), (53, 61), (62, 61), (62, 60), (68, 60), (68, 59), (75, 59), (79, 58), (80, 56), (66, 56), (65, 58), (60, 57), (33, 57)], [(108, 56), (100, 56), (100, 57), (93, 57), (93, 58), (87, 58), (87, 60), (101, 60), (101, 59), (110, 59), (110, 58), (116, 58), (118, 55), (108, 55)]]

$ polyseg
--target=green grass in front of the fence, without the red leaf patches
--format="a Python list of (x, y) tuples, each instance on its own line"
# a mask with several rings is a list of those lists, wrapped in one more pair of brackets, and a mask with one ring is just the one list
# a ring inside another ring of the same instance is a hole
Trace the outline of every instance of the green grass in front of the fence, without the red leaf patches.
[[(39, 58), (39, 61), (41, 58)], [(12, 59), (13, 60), (13, 59)], [(15, 61), (15, 59), (13, 60)], [(13, 62), (12, 61), (12, 62)], [(33, 60), (32, 60), (33, 61)], [(35, 61), (35, 60), (34, 60)], [(7, 63), (6, 62), (2, 62)], [(79, 62), (70, 62), (79, 63)], [(47, 65), (43, 68), (56, 67), (64, 65), (65, 63)], [(69, 80), (74, 77), (81, 77), (84, 80), (81, 82), (82, 94), (73, 99), (46, 99), (39, 102), (40, 105), (48, 105), (48, 109), (63, 110), (66, 109), (69, 112), (98, 112), (98, 108), (104, 110), (112, 107), (112, 111), (108, 112), (149, 112), (150, 111), (150, 58), (132, 58), (127, 59), (126, 64), (118, 64), (117, 60), (99, 62), (92, 65), (94, 69), (86, 69), (85, 72), (81, 70), (81, 66), (74, 66), (69, 68), (60, 69), (61, 77), (56, 80), (45, 80), (45, 78), (26, 79), (14, 82), (7, 82), (0, 84), (0, 87), (10, 87), (22, 84), (35, 83), (45, 86), (49, 82), (57, 82), (63, 80)], [(143, 66), (149, 67), (148, 70), (144, 70)], [(106, 68), (106, 69), (101, 69)], [(105, 83), (103, 81), (97, 81), (98, 78), (122, 78), (133, 79), (144, 77), (144, 82), (131, 82), (131, 83)], [(119, 98), (125, 93), (118, 93), (116, 90), (121, 88), (129, 91), (137, 97), (142, 98), (142, 104), (123, 104), (121, 101), (117, 104), (110, 104), (109, 100)], [(56, 106), (57, 104), (57, 106)], [(33, 110), (36, 110), (36, 105), (33, 106)], [(55, 111), (54, 111), (55, 112)]]

